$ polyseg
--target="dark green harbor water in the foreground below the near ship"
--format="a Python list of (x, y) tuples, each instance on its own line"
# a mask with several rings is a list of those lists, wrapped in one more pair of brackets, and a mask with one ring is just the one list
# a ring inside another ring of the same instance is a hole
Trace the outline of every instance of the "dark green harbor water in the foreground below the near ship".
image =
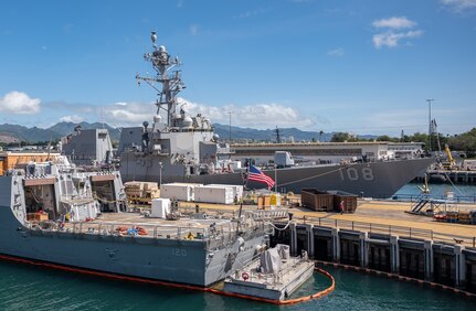
[[(190, 290), (121, 282), (0, 261), (0, 310), (474, 310), (475, 300), (384, 277), (326, 267), (336, 290), (277, 307)], [(295, 296), (329, 286), (316, 275)]]

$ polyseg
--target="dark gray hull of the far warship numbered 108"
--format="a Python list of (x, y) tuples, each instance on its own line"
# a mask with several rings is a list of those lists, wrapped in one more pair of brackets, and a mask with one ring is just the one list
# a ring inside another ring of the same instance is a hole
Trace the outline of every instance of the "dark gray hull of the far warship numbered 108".
[[(248, 189), (263, 189), (264, 183), (247, 182), (245, 174), (216, 173), (186, 175), (183, 167), (169, 165), (155, 156), (123, 154), (120, 173), (124, 181), (190, 182), (204, 184), (246, 184)], [(351, 164), (324, 164), (263, 170), (275, 179), (277, 191), (300, 193), (302, 189), (340, 190), (369, 197), (390, 197), (416, 175), (424, 173), (434, 162), (431, 158), (380, 161)], [(165, 173), (167, 172), (167, 173)]]

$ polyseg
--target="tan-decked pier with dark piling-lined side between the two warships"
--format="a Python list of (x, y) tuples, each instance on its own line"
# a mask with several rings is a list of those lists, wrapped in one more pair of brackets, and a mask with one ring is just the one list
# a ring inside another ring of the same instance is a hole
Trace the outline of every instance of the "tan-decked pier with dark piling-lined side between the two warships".
[[(320, 261), (476, 293), (476, 226), (404, 213), (411, 206), (410, 202), (359, 200), (353, 214), (293, 208), (293, 222), (275, 223), (269, 243), (288, 244), (293, 255), (307, 250)], [(476, 204), (458, 203), (455, 207), (468, 212), (476, 210)], [(201, 204), (201, 208), (235, 214), (240, 206)], [(256, 206), (244, 208), (255, 211)]]

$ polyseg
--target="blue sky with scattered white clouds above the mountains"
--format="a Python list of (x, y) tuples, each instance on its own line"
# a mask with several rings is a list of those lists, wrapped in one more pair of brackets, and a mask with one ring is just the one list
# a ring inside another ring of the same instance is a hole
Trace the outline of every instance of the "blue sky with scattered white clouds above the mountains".
[(186, 110), (353, 133), (476, 126), (476, 0), (3, 1), (0, 124), (139, 126), (150, 31), (183, 63)]

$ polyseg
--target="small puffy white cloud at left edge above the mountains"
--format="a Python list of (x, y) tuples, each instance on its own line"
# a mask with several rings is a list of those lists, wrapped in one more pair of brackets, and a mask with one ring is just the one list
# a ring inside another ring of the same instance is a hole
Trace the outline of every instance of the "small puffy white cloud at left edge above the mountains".
[(14, 115), (34, 115), (41, 109), (40, 98), (31, 98), (25, 93), (12, 90), (0, 98), (0, 111)]

